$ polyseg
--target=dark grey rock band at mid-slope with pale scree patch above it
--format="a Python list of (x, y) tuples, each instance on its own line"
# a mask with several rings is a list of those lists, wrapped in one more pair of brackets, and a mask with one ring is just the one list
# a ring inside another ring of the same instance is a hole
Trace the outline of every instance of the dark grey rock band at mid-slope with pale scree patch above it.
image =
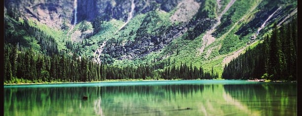
[[(136, 38), (134, 41), (127, 41), (125, 44), (120, 44), (118, 41), (109, 41), (107, 43), (107, 47), (104, 48), (104, 52), (109, 54), (113, 58), (117, 58), (119, 60), (123, 59), (135, 59), (141, 58), (150, 52), (158, 51), (162, 49), (165, 45), (169, 44), (173, 39), (181, 37), (185, 34), (188, 29), (196, 29), (198, 30), (195, 33), (195, 37), (198, 37), (200, 34), (204, 33), (207, 29), (210, 29), (211, 26), (217, 22), (215, 19), (210, 19), (206, 16), (198, 17), (192, 19), (193, 16), (198, 12), (200, 1), (196, 2), (193, 0), (189, 0), (190, 2), (182, 3), (182, 0), (156, 0), (153, 3), (161, 4), (160, 10), (169, 12), (172, 9), (177, 7), (176, 13), (170, 18), (171, 22), (178, 21), (182, 22), (180, 25), (173, 25), (170, 27), (159, 28), (156, 32), (160, 33), (160, 35), (150, 35), (147, 34), (142, 24), (140, 29), (136, 32)], [(152, 2), (152, 1), (149, 1)], [(143, 3), (143, 5), (146, 2)], [(191, 3), (191, 4), (189, 4)], [(137, 5), (137, 4), (136, 4)], [(142, 5), (139, 5), (142, 6)], [(193, 6), (193, 8), (192, 8)], [(156, 7), (155, 4), (146, 3), (141, 12), (148, 12), (148, 9), (154, 9)], [(188, 12), (190, 10), (190, 12)], [(193, 11), (194, 10), (194, 11)], [(136, 11), (136, 12), (140, 12)], [(181, 12), (181, 11), (184, 11)], [(191, 13), (191, 14), (189, 14)], [(188, 16), (187, 16), (188, 15)], [(184, 16), (184, 18), (182, 17)], [(149, 23), (149, 17), (147, 16), (143, 22)], [(142, 34), (143, 33), (143, 34)]]

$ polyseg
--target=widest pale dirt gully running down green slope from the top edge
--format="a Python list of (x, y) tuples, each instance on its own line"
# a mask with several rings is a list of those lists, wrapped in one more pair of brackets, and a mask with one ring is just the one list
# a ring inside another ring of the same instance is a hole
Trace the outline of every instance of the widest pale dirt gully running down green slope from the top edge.
[(209, 30), (205, 33), (205, 35), (202, 37), (202, 46), (199, 49), (200, 53), (203, 52), (204, 48), (211, 44), (212, 42), (215, 41), (215, 38), (212, 36), (214, 31), (216, 30), (216, 27), (221, 24), (221, 17), (227, 12), (227, 10), (234, 4), (236, 0), (231, 0), (228, 2), (226, 8), (222, 11), (222, 13), (218, 16), (217, 20), (218, 22)]

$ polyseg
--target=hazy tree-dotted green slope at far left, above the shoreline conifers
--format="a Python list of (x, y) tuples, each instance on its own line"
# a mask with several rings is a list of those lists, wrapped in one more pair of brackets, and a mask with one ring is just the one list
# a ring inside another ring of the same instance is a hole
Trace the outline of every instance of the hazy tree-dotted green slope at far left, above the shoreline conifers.
[[(19, 20), (7, 17), (5, 20), (5, 43), (12, 43), (24, 48), (31, 48), (34, 52), (48, 55), (57, 54), (58, 43), (39, 28), (31, 26), (27, 20)], [(9, 38), (9, 39), (8, 39)]]

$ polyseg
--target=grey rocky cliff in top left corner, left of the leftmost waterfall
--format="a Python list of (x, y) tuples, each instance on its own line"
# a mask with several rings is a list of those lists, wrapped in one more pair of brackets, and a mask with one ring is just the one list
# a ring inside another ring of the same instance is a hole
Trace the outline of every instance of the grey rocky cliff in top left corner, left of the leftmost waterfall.
[[(73, 19), (72, 0), (5, 0), (7, 13), (16, 17), (37, 20), (55, 29)], [(12, 14), (15, 13), (15, 14)]]

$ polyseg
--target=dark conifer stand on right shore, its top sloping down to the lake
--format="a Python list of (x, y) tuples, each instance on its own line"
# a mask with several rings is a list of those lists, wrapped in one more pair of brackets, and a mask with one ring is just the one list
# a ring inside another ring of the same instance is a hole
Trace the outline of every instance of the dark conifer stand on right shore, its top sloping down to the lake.
[(264, 42), (248, 49), (225, 66), (226, 79), (297, 80), (297, 19), (274, 25)]

